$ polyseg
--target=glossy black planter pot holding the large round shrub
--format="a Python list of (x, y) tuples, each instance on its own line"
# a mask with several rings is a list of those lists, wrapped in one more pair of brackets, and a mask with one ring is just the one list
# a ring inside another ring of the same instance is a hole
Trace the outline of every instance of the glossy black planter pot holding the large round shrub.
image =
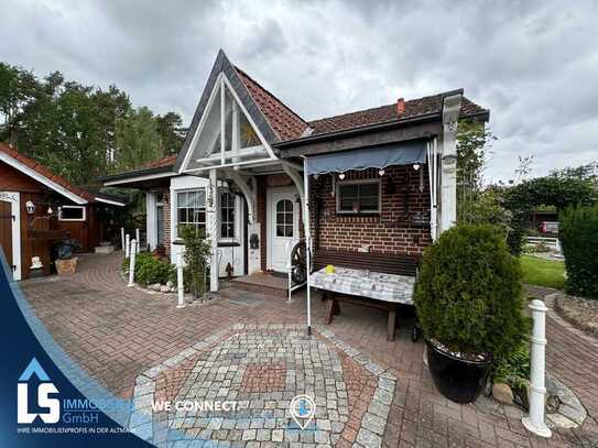
[(430, 340), (426, 345), (427, 364), (438, 391), (457, 403), (474, 402), (486, 386), (491, 360), (468, 361)]

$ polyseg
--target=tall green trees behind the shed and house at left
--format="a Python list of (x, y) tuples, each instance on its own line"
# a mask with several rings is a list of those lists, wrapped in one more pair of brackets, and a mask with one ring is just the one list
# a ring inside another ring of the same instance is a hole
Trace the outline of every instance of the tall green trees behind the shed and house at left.
[(39, 78), (0, 62), (0, 141), (81, 186), (178, 152), (181, 116), (134, 108), (117, 86)]

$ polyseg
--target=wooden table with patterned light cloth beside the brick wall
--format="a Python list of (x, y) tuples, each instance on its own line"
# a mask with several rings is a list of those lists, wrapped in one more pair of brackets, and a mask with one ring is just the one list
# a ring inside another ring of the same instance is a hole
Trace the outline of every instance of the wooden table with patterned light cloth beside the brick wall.
[(389, 340), (394, 340), (398, 306), (413, 305), (414, 283), (413, 276), (350, 267), (335, 267), (334, 273), (323, 267), (311, 274), (311, 285), (323, 289), (328, 298), (327, 325), (340, 313), (339, 302), (381, 308), (388, 310)]

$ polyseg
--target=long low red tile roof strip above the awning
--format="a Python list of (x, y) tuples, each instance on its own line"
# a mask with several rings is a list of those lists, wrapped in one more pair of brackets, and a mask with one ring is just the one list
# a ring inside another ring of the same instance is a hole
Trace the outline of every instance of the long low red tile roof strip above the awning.
[[(341, 116), (322, 118), (309, 121), (313, 129), (311, 135), (326, 134), (329, 132), (345, 131), (354, 128), (360, 128), (370, 124), (381, 124), (398, 119), (414, 118), (427, 113), (441, 112), (443, 96), (434, 95), (405, 101), (405, 111), (401, 114), (396, 112), (396, 102), (387, 106), (380, 106), (373, 109), (359, 110), (356, 112), (344, 113)], [(471, 102), (467, 98), (461, 101), (461, 117), (471, 117), (479, 113), (487, 113), (488, 110)]]

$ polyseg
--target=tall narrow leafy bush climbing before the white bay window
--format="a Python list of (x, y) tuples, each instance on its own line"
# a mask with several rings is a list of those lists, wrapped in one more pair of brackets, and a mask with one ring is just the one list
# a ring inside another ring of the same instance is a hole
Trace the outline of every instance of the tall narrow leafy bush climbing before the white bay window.
[(181, 226), (178, 228), (178, 237), (185, 244), (184, 260), (187, 266), (185, 267), (186, 278), (185, 285), (195, 296), (202, 296), (206, 292), (206, 273), (207, 258), (211, 253), (209, 240), (206, 239), (205, 232), (197, 229), (195, 226)]

